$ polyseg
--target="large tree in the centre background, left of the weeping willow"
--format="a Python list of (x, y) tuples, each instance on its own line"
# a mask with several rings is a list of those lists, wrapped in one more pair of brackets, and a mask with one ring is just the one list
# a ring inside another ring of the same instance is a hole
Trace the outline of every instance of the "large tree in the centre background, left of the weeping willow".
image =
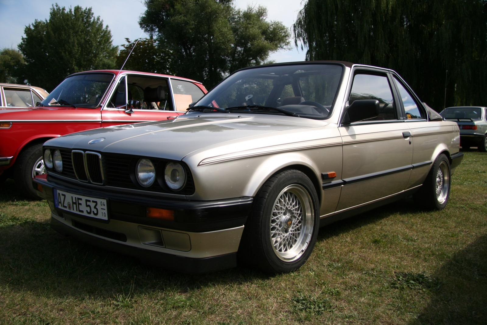
[(237, 10), (231, 0), (145, 0), (140, 26), (171, 55), (175, 74), (211, 88), (235, 69), (262, 64), (289, 46), (281, 22), (263, 7)]

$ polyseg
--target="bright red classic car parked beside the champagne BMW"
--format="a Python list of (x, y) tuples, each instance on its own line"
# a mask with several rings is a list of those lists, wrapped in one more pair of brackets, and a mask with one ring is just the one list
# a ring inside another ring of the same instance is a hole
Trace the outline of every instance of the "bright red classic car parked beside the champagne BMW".
[(38, 198), (32, 178), (45, 173), (42, 143), (98, 127), (174, 119), (206, 94), (201, 82), (136, 71), (75, 73), (30, 108), (0, 109), (0, 183), (15, 179)]

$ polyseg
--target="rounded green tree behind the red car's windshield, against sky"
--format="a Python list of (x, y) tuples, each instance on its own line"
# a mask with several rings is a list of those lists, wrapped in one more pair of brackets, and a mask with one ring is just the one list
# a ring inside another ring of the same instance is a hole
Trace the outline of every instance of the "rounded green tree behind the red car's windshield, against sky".
[(35, 20), (24, 32), (18, 47), (27, 62), (24, 77), (32, 85), (51, 91), (72, 73), (115, 65), (112, 33), (92, 8), (66, 10), (56, 3), (49, 20)]

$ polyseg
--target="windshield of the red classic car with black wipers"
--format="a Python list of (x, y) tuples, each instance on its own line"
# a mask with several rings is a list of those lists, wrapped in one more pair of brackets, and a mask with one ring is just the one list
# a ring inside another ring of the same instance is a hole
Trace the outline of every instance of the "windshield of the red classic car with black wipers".
[(112, 73), (87, 73), (64, 79), (41, 103), (45, 106), (67, 103), (79, 107), (98, 107), (114, 75)]

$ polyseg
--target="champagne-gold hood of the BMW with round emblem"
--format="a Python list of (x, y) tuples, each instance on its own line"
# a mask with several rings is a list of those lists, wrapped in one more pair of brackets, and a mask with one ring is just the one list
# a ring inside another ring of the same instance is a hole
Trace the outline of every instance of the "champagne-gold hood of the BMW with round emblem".
[[(326, 122), (276, 115), (202, 114), (174, 120), (92, 129), (52, 139), (45, 145), (182, 160), (189, 153), (222, 143), (263, 138), (326, 125)], [(89, 144), (95, 139), (101, 142)], [(262, 140), (261, 140), (262, 139)], [(288, 141), (288, 140), (286, 140)]]

